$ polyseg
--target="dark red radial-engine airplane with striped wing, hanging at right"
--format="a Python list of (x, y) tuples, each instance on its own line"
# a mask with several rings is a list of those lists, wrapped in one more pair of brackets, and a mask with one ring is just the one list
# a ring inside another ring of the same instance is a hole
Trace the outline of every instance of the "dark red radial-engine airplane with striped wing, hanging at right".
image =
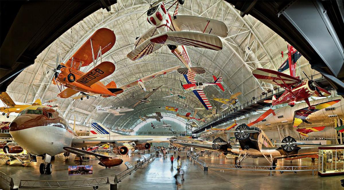
[(316, 83), (310, 79), (302, 81), (300, 78), (266, 68), (257, 68), (252, 71), (252, 74), (261, 81), (277, 84), (286, 90), (278, 99), (274, 95), (272, 100), (264, 101), (266, 103), (272, 103), (272, 105), (288, 104), (293, 107), (296, 102), (304, 100), (309, 109), (315, 109), (314, 106), (310, 105), (308, 100), (309, 97), (325, 97), (331, 95), (330, 92), (317, 86)]

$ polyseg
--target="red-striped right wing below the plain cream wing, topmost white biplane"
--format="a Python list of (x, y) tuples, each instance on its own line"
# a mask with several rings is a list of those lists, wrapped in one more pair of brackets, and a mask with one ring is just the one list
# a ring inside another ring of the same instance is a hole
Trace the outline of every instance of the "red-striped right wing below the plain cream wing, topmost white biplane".
[(153, 36), (149, 40), (159, 44), (187, 45), (210, 50), (222, 50), (222, 41), (218, 36), (200, 32), (165, 32)]

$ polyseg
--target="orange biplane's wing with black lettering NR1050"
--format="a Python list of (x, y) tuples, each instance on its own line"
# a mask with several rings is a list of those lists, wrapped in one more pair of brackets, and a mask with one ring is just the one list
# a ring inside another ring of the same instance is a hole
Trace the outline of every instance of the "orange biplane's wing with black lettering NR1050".
[(77, 82), (82, 83), (86, 86), (91, 86), (94, 83), (102, 80), (103, 78), (112, 74), (116, 69), (115, 64), (104, 61), (99, 65), (95, 66), (93, 69), (89, 70), (86, 74), (81, 76)]

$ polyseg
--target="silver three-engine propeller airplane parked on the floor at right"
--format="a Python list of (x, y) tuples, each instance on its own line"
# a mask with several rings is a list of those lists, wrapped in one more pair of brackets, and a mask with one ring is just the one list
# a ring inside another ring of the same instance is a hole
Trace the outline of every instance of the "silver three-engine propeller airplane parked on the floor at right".
[[(264, 157), (271, 164), (271, 169), (275, 169), (277, 159), (281, 158), (305, 158), (318, 154), (320, 144), (305, 144), (297, 142), (293, 137), (285, 137), (281, 143), (272, 144), (263, 130), (257, 127), (249, 127), (246, 124), (239, 125), (234, 132), (235, 138), (239, 141), (240, 146), (232, 146), (222, 138), (218, 137), (213, 140), (212, 144), (191, 144), (174, 141), (174, 143), (202, 148), (211, 151), (223, 152), (225, 155), (231, 154), (238, 157), (234, 158), (234, 164), (240, 167), (240, 163), (248, 157)], [(323, 145), (326, 146), (326, 145)]]

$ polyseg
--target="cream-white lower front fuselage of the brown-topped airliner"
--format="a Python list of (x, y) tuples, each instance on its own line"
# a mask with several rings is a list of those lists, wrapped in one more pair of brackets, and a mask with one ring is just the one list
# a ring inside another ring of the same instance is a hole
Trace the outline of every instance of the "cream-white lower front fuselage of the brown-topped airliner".
[(55, 126), (36, 126), (10, 131), (10, 134), (19, 146), (31, 154), (50, 156), (65, 152), (63, 147), (70, 147), (75, 138), (65, 128)]

